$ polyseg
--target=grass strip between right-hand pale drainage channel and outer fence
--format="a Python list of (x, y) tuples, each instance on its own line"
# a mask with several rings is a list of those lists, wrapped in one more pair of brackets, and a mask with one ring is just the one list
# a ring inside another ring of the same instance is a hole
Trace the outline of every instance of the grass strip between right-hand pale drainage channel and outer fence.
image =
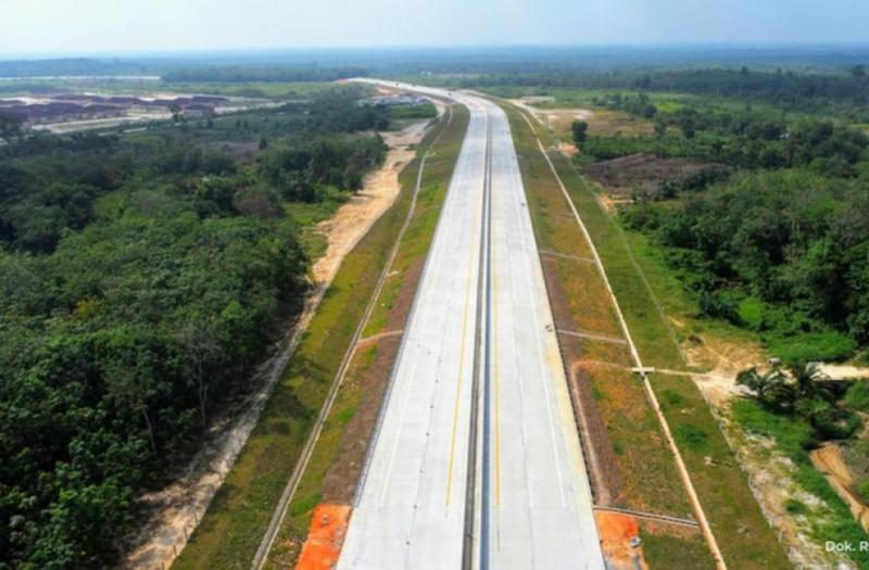
[[(517, 151), (529, 147), (539, 155), (528, 124), (509, 109)], [(536, 128), (544, 145), (552, 138)], [(620, 303), (644, 365), (683, 368), (678, 338), (668, 326), (664, 308), (657, 304), (652, 286), (638, 267), (627, 238), (604, 211), (592, 187), (561, 153), (550, 157), (564, 181), (583, 223), (597, 248), (610, 284)], [(530, 186), (530, 185), (529, 185)], [(789, 568), (782, 546), (766, 521), (716, 419), (700, 390), (688, 378), (652, 375), (653, 390), (688, 466), (701, 504), (714, 530), (726, 562), (732, 568)], [(714, 464), (707, 466), (710, 456)]]

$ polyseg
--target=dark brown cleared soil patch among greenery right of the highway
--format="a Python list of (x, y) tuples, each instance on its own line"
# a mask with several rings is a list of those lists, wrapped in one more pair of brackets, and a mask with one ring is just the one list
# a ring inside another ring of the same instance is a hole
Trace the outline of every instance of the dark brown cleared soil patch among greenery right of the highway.
[(631, 154), (601, 161), (582, 168), (582, 174), (615, 194), (633, 191), (653, 192), (663, 180), (680, 180), (715, 166), (692, 159), (662, 159), (651, 154)]

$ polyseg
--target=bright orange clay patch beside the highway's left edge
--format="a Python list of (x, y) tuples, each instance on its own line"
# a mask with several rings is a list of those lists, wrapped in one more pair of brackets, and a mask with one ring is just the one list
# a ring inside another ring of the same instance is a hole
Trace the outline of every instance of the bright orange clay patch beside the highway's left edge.
[(331, 570), (338, 563), (350, 523), (350, 507), (320, 503), (311, 517), (307, 540), (295, 570)]

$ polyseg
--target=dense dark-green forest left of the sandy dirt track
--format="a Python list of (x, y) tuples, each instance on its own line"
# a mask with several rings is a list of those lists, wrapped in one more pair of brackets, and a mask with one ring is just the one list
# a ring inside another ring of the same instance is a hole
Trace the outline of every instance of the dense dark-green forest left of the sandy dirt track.
[(114, 562), (137, 493), (250, 388), (307, 287), (285, 205), (385, 155), (358, 97), (0, 147), (0, 568)]

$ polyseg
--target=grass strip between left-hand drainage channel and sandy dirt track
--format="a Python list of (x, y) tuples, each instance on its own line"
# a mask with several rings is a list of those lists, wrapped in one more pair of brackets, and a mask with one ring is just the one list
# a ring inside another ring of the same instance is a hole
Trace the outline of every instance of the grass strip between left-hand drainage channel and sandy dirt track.
[(403, 187), (344, 258), (260, 421), (173, 568), (250, 567), (404, 221), (412, 191), (413, 186)]

